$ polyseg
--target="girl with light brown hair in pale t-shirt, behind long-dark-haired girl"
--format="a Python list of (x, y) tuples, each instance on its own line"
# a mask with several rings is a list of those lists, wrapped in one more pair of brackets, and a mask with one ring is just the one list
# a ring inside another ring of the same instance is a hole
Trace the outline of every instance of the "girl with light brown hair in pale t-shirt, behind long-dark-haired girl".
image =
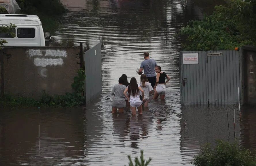
[(140, 86), (144, 91), (144, 99), (145, 99), (144, 107), (147, 107), (148, 101), (149, 101), (149, 93), (151, 93), (153, 91), (153, 88), (152, 88), (151, 84), (148, 82), (147, 76), (145, 74), (141, 75)]

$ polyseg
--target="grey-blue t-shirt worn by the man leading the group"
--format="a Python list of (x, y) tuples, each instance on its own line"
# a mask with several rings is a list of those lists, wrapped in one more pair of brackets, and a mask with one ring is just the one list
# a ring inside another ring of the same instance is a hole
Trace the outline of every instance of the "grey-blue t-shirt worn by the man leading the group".
[(153, 59), (145, 59), (142, 63), (141, 63), (141, 68), (143, 68), (144, 70), (144, 74), (147, 77), (155, 77), (156, 76), (156, 72), (155, 72), (155, 67), (156, 67), (156, 61)]

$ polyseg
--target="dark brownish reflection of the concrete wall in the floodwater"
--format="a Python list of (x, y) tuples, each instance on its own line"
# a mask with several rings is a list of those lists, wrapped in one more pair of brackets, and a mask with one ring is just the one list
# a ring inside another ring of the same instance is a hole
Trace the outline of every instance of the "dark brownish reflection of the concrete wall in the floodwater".
[(83, 155), (83, 110), (1, 110), (0, 122), (0, 165), (57, 165)]

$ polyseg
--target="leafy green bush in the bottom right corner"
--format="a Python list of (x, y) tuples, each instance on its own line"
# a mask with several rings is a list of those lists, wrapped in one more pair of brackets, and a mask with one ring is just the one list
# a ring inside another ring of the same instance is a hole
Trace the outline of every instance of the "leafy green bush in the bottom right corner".
[(237, 142), (229, 143), (218, 140), (214, 149), (210, 144), (204, 145), (191, 164), (196, 166), (255, 166), (256, 156), (251, 155), (249, 150), (240, 148)]

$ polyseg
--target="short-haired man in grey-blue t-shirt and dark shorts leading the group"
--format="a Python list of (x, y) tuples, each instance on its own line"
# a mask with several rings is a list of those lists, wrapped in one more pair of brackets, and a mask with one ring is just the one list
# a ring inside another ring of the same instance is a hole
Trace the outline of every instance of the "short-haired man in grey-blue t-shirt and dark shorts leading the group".
[(151, 86), (154, 88), (156, 84), (156, 72), (155, 67), (157, 66), (156, 61), (149, 58), (149, 53), (144, 52), (144, 61), (141, 63), (141, 67), (138, 71), (138, 74), (142, 74), (142, 70), (144, 69), (144, 74), (147, 76), (148, 81), (151, 83)]

